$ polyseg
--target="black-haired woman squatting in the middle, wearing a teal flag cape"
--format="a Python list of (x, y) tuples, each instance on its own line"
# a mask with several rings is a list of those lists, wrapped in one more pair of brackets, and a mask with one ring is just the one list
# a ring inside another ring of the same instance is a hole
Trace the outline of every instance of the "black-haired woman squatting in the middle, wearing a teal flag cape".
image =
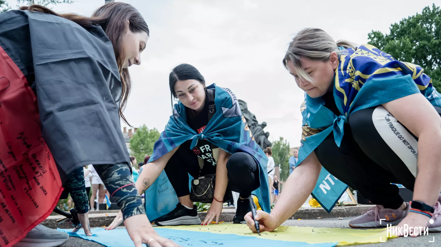
[[(179, 102), (136, 183), (139, 193), (151, 186), (147, 216), (156, 225), (201, 224), (193, 202), (208, 201), (202, 225), (217, 224), (230, 191), (239, 192), (234, 223), (245, 222), (251, 194), (269, 212), (268, 159), (254, 141), (236, 96), (228, 88), (206, 86), (189, 64), (172, 70), (169, 86)], [(188, 173), (194, 178), (190, 186)], [(114, 221), (108, 229), (117, 225)]]

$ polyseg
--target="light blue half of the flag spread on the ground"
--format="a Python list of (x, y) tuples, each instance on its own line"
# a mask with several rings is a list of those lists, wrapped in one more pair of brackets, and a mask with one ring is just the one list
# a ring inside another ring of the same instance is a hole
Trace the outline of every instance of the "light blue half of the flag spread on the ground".
[[(132, 247), (135, 246), (126, 229), (113, 229), (106, 231), (102, 228), (92, 229), (92, 236), (86, 236), (84, 230), (71, 232), (72, 229), (58, 229), (67, 232), (70, 236), (79, 237), (106, 247)], [(254, 236), (240, 236), (237, 234), (216, 234), (211, 232), (195, 232), (174, 229), (155, 228), (159, 236), (175, 241), (179, 246), (277, 246), (277, 247), (334, 247), (337, 243), (304, 243), (295, 241), (268, 240)], [(146, 247), (146, 244), (142, 245)]]

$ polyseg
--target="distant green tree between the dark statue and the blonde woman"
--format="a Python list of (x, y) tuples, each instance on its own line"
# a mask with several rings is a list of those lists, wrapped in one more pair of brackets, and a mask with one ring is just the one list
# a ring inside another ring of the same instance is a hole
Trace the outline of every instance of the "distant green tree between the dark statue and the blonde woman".
[(289, 175), (289, 142), (280, 137), (271, 145), (273, 151), (273, 159), (276, 166), (279, 166), (280, 180), (286, 181)]

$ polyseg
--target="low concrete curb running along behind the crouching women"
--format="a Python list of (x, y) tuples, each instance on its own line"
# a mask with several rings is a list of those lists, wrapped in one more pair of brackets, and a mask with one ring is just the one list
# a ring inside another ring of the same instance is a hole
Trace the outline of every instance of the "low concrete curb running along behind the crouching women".
[[(301, 208), (295, 212), (295, 214), (290, 217), (291, 219), (302, 219), (302, 220), (312, 220), (318, 217), (322, 218), (338, 218), (338, 217), (353, 217), (359, 216), (364, 210), (371, 208), (374, 205), (361, 205), (361, 206), (339, 206), (334, 207), (330, 214), (328, 214), (323, 208)], [(115, 212), (116, 211), (116, 212)], [(108, 226), (112, 223), (113, 219), (116, 217), (118, 210), (107, 210), (107, 211), (91, 211), (89, 214), (89, 221), (91, 227), (102, 227)], [(199, 218), (201, 221), (205, 220), (207, 212), (199, 212)], [(232, 222), (235, 215), (235, 209), (224, 209), (221, 214), (220, 221)], [(49, 216), (45, 221), (41, 222), (49, 228), (56, 229), (69, 229), (72, 228), (70, 225), (63, 223), (56, 226), (56, 221), (58, 219), (64, 218), (60, 215)], [(124, 223), (121, 224), (123, 226)]]

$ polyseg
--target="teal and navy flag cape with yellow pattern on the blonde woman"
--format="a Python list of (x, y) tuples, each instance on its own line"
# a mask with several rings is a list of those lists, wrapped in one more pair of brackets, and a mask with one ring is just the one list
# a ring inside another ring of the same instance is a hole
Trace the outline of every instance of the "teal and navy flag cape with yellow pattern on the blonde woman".
[[(297, 166), (331, 132), (340, 147), (343, 126), (355, 111), (415, 93), (422, 93), (432, 105), (441, 107), (441, 95), (420, 66), (397, 61), (369, 44), (346, 49), (339, 60), (333, 95), (340, 115), (326, 108), (321, 97), (311, 98), (305, 93), (305, 102), (300, 108), (303, 132)], [(322, 168), (312, 196), (329, 213), (346, 188), (346, 184)]]

